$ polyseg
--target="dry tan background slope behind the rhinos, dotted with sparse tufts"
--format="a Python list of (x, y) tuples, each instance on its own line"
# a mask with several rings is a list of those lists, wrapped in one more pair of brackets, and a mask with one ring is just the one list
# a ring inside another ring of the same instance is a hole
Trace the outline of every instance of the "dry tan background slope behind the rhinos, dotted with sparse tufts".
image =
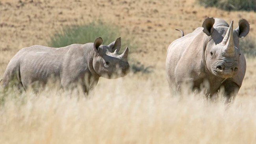
[(180, 37), (175, 28), (190, 33), (207, 16), (223, 18), (228, 23), (233, 19), (234, 27), (240, 18), (246, 18), (251, 26), (249, 35), (256, 33), (254, 12), (205, 9), (194, 0), (1, 0), (0, 75), (21, 48), (46, 45), (62, 26), (96, 19), (121, 26), (121, 37), (134, 36), (141, 45), (133, 55), (137, 60), (164, 68), (168, 45)]

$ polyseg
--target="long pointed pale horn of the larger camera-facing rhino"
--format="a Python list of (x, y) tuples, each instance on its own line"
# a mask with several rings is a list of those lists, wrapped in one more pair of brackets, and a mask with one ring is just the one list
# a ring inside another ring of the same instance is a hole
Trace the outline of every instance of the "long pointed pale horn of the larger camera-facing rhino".
[(235, 53), (234, 48), (234, 39), (233, 39), (233, 20), (228, 28), (228, 31), (222, 41), (222, 44), (225, 45), (224, 50), (227, 55), (233, 56)]

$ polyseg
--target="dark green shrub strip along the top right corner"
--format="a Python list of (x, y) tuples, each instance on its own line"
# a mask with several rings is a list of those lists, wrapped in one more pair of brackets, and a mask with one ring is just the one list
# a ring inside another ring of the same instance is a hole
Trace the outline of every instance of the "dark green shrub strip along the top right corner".
[(256, 11), (256, 0), (197, 0), (204, 7), (217, 7), (228, 11)]

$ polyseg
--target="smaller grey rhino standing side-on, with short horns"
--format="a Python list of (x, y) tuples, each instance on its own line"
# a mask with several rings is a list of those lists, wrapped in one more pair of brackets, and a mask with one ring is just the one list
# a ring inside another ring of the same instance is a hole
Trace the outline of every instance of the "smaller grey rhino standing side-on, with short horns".
[(88, 92), (99, 78), (119, 78), (129, 72), (128, 48), (119, 55), (121, 39), (108, 46), (102, 38), (93, 43), (71, 44), (62, 48), (34, 45), (21, 49), (9, 62), (2, 86), (15, 81), (18, 87), (28, 89), (33, 83), (45, 85), (49, 78), (60, 81), (64, 89), (82, 86)]

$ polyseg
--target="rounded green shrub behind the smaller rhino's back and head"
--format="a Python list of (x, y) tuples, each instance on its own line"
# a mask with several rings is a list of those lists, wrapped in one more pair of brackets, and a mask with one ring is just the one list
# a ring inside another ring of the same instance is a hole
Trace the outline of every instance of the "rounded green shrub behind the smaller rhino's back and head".
[[(48, 46), (59, 48), (70, 44), (85, 44), (94, 42), (98, 37), (102, 37), (103, 44), (108, 45), (118, 37), (121, 37), (119, 27), (110, 26), (100, 21), (80, 26), (65, 26), (60, 31), (56, 31), (48, 42)], [(121, 52), (126, 46), (129, 48), (132, 46), (130, 50), (135, 48), (134, 44), (131, 43), (133, 41), (132, 38), (121, 37), (121, 39)]]

